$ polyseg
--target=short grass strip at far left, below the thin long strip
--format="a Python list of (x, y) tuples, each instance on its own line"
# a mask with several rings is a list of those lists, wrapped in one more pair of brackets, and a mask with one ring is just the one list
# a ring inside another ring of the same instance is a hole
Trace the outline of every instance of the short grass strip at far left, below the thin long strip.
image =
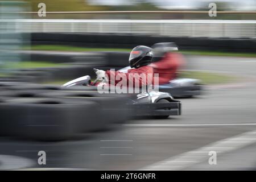
[(9, 63), (5, 65), (8, 69), (24, 69), (24, 68), (48, 68), (48, 67), (59, 67), (61, 63), (49, 63), (42, 61), (20, 61), (18, 63)]

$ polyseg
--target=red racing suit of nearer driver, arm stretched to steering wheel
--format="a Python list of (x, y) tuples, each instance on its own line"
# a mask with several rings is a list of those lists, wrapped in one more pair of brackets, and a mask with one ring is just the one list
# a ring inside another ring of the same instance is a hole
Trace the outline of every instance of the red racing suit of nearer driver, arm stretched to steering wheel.
[(139, 85), (141, 88), (142, 86), (153, 85), (154, 82), (154, 69), (148, 65), (137, 69), (129, 69), (127, 73), (108, 70), (106, 75), (109, 78), (109, 84), (112, 85), (117, 85), (122, 79), (126, 79), (127, 87), (133, 84), (133, 87)]

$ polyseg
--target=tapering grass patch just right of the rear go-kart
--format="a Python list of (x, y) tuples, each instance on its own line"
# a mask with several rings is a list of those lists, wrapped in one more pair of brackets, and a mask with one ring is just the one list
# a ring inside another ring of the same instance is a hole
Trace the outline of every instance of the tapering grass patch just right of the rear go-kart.
[(206, 85), (226, 84), (237, 80), (236, 77), (230, 75), (199, 71), (183, 71), (179, 74), (179, 77), (200, 79), (202, 84)]

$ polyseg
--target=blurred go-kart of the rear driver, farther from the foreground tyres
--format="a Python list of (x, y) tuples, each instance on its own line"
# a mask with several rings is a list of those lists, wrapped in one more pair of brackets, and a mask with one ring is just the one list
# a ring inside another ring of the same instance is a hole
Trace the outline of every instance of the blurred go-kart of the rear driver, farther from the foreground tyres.
[[(130, 66), (119, 69), (119, 72), (126, 73)], [(202, 91), (201, 81), (193, 78), (176, 78), (168, 84), (159, 85), (160, 92), (170, 93), (172, 97), (193, 97), (199, 96)]]

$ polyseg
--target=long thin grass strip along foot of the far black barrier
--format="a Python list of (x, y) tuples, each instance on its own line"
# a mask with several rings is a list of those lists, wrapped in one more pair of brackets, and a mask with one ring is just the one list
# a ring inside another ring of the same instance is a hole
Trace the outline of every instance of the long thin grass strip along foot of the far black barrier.
[[(60, 46), (60, 45), (36, 45), (31, 47), (23, 47), (25, 50), (36, 51), (126, 51), (130, 52), (131, 49), (127, 48), (90, 48), (90, 47), (75, 47), (75, 46)], [(256, 53), (240, 53), (240, 52), (220, 52), (220, 51), (180, 51), (189, 55), (204, 55), (204, 56), (240, 56), (240, 57), (256, 57)]]

